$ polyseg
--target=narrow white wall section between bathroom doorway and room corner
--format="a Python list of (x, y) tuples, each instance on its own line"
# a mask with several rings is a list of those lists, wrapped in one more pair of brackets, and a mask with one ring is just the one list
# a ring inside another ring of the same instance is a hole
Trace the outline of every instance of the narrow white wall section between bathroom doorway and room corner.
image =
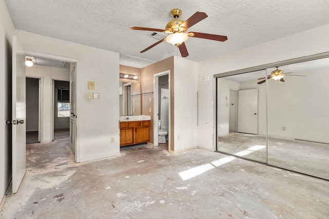
[[(174, 57), (175, 152), (197, 147), (197, 63)], [(178, 139), (179, 138), (179, 139)]]

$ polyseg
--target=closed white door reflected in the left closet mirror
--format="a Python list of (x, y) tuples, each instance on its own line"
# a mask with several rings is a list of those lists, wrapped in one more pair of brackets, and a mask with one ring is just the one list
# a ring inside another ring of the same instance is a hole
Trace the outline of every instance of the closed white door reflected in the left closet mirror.
[(258, 134), (258, 89), (239, 90), (237, 131)]

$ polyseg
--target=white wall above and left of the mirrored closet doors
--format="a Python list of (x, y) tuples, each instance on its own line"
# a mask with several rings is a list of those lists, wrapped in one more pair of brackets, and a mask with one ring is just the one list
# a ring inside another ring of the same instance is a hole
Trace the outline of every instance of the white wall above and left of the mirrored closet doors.
[[(198, 63), (198, 145), (213, 146), (213, 84), (203, 76), (224, 73), (329, 51), (329, 25), (290, 35)], [(176, 92), (175, 92), (176, 93)], [(214, 143), (215, 144), (215, 143)]]

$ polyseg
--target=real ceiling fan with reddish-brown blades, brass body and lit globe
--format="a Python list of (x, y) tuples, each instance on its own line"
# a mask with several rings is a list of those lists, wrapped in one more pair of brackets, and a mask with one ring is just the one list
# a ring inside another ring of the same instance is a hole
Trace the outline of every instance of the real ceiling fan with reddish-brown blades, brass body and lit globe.
[(204, 38), (204, 39), (212, 39), (213, 41), (221, 41), (224, 42), (227, 40), (227, 36), (222, 35), (215, 35), (209, 33), (198, 33), (198, 32), (188, 32), (185, 33), (190, 27), (197, 24), (198, 22), (202, 21), (208, 15), (205, 12), (195, 12), (190, 18), (186, 21), (181, 21), (178, 17), (181, 15), (180, 9), (173, 9), (171, 10), (171, 15), (175, 18), (173, 21), (169, 22), (166, 25), (165, 29), (156, 29), (156, 28), (147, 28), (147, 27), (131, 27), (131, 30), (147, 30), (147, 31), (156, 31), (156, 32), (166, 32), (170, 35), (166, 38), (160, 39), (160, 41), (156, 42), (155, 44), (149, 46), (148, 48), (140, 51), (146, 52), (149, 49), (153, 48), (154, 46), (162, 43), (163, 41), (167, 41), (168, 43), (173, 44), (174, 46), (179, 48), (180, 54), (182, 57), (187, 57), (189, 55), (185, 41), (188, 37), (196, 37), (196, 38)]

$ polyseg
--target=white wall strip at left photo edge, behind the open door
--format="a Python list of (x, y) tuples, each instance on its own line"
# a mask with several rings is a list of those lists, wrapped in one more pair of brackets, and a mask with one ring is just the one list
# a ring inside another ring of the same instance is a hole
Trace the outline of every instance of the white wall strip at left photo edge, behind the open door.
[(0, 203), (11, 179), (11, 44), (14, 26), (0, 1)]

